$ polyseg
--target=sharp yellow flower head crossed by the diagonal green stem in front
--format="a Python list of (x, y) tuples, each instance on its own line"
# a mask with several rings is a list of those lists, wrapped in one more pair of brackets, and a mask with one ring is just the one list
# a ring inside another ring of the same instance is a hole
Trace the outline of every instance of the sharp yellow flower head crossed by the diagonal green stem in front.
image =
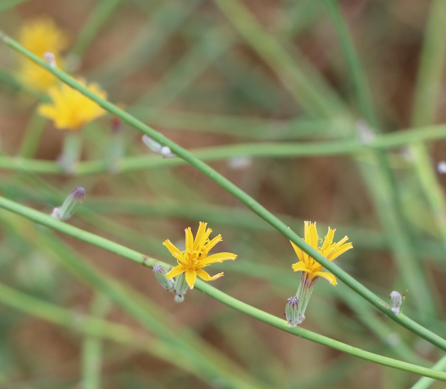
[[(319, 241), (322, 242), (322, 239), (317, 235), (316, 223), (305, 222), (305, 230), (304, 230), (304, 241), (312, 248), (315, 248), (317, 251), (327, 258), (330, 261), (333, 261), (343, 252), (350, 250), (353, 248), (351, 242), (345, 243), (349, 237), (344, 236), (339, 242), (333, 243), (333, 238), (335, 236), (335, 230), (328, 228), (327, 235), (325, 236), (324, 243), (322, 247), (318, 247)], [(290, 241), (291, 242), (291, 241)], [(324, 266), (320, 265), (316, 260), (310, 257), (305, 251), (301, 248), (298, 248), (293, 242), (294, 251), (296, 251), (297, 257), (299, 258), (299, 262), (293, 264), (294, 271), (304, 271), (309, 274), (309, 279), (313, 279), (315, 277), (323, 277), (328, 280), (332, 285), (336, 285), (335, 276), (331, 273), (323, 272), (322, 269)]]

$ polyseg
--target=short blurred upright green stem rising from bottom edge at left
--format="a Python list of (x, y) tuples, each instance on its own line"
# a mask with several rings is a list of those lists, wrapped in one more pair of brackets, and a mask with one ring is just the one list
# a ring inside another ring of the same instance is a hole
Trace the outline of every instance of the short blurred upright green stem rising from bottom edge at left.
[[(91, 315), (103, 318), (110, 307), (110, 300), (103, 294), (96, 293), (93, 297)], [(101, 331), (101, 327), (97, 329)], [(82, 343), (82, 388), (101, 388), (102, 339), (97, 336), (85, 336)]]

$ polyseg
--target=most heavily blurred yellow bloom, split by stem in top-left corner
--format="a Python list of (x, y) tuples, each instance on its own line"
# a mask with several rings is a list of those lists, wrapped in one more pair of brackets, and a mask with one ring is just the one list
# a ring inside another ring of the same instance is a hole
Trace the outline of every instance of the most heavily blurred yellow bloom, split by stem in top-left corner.
[[(19, 43), (40, 58), (47, 52), (53, 53), (58, 66), (63, 67), (61, 52), (66, 49), (68, 39), (52, 19), (38, 18), (27, 22), (19, 32)], [(20, 57), (19, 79), (29, 88), (41, 91), (46, 91), (57, 81), (50, 72), (25, 57)]]

